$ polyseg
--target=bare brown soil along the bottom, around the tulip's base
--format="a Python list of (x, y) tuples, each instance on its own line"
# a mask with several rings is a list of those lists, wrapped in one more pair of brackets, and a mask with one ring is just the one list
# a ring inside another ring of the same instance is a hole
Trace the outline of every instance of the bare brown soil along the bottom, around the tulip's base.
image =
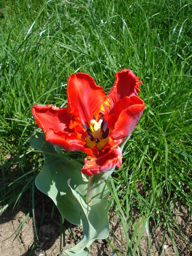
[[(27, 207), (26, 207), (27, 205)], [(19, 209), (8, 209), (0, 216), (0, 256), (58, 256), (60, 248), (60, 219), (57, 208), (53, 208), (52, 202), (49, 200), (45, 206), (45, 212), (42, 213), (42, 205), (36, 206), (36, 227), (38, 240), (35, 235), (33, 217), (27, 217), (22, 229), (18, 232), (18, 227), (26, 217), (28, 212), (28, 201), (24, 200), (20, 204)], [(178, 209), (178, 204), (175, 205)], [(176, 210), (175, 210), (176, 211)], [(140, 218), (140, 213), (133, 210), (134, 226)], [(173, 232), (176, 247), (181, 256), (189, 256), (190, 253), (190, 237), (192, 234), (190, 217), (184, 206), (179, 207), (179, 211), (175, 215), (175, 222), (184, 236)], [(44, 218), (42, 218), (44, 217)], [(110, 235), (108, 242), (106, 240), (95, 241), (90, 249), (90, 256), (126, 256), (126, 237), (123, 231), (120, 217), (112, 209), (109, 214), (110, 219)], [(142, 228), (142, 227), (141, 227)], [(140, 229), (141, 229), (140, 228)], [(173, 249), (173, 242), (170, 236), (166, 234), (164, 237), (164, 227), (162, 224), (156, 225), (152, 219), (149, 220), (149, 239), (147, 239), (146, 231), (144, 231), (140, 240), (140, 251), (136, 251), (135, 255), (160, 255), (161, 250), (163, 256), (176, 256)], [(65, 236), (65, 248), (75, 245), (82, 237), (82, 227), (74, 226), (65, 221), (63, 224), (63, 233)], [(133, 228), (129, 227), (129, 237), (133, 235)], [(167, 232), (168, 233), (168, 232)], [(17, 236), (16, 236), (17, 235)], [(139, 232), (137, 236), (139, 235)], [(164, 247), (161, 248), (164, 237)], [(109, 245), (111, 243), (114, 249)], [(153, 246), (150, 245), (150, 243)], [(148, 249), (149, 248), (149, 249)]]

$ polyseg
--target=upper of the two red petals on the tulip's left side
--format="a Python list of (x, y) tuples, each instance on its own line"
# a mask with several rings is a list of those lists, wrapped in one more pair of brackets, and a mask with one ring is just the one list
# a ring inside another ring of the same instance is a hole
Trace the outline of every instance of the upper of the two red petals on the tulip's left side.
[(44, 131), (53, 129), (55, 131), (71, 133), (69, 128), (71, 114), (68, 108), (58, 108), (50, 105), (34, 105), (32, 114), (38, 126)]

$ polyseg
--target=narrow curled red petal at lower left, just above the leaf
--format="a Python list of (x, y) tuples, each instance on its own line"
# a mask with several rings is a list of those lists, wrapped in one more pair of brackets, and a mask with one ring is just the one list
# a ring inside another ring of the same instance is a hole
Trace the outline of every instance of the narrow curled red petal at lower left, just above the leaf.
[(45, 134), (45, 139), (67, 151), (83, 151), (91, 157), (94, 156), (92, 149), (88, 148), (86, 143), (80, 140), (75, 133), (69, 136), (67, 133), (55, 132), (49, 129)]

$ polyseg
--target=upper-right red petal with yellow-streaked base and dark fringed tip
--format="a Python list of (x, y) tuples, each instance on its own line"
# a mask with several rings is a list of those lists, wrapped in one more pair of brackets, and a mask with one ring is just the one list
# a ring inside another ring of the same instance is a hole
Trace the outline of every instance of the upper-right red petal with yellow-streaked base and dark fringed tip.
[(114, 105), (118, 100), (126, 96), (137, 96), (140, 92), (139, 85), (142, 83), (138, 79), (130, 69), (122, 69), (115, 73), (114, 85), (101, 106), (101, 112), (103, 114), (113, 112)]

